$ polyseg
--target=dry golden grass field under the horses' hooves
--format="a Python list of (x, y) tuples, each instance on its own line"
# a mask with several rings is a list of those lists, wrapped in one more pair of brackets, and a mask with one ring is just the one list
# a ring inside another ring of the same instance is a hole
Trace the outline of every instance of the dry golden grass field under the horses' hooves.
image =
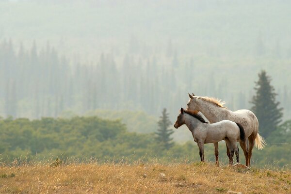
[(22, 164), (0, 167), (2, 194), (290, 194), (291, 171), (192, 164)]

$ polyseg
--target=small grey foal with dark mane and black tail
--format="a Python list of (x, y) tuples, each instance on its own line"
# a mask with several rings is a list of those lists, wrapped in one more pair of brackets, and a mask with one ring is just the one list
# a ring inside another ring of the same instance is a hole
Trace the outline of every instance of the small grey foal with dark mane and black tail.
[(229, 164), (232, 165), (233, 163), (234, 152), (237, 156), (237, 162), (239, 162), (239, 148), (236, 143), (239, 141), (246, 144), (244, 130), (240, 124), (228, 120), (209, 124), (198, 112), (186, 111), (181, 108), (174, 127), (178, 129), (184, 124), (192, 132), (194, 141), (199, 147), (201, 162), (205, 162), (204, 144), (216, 143), (221, 140), (225, 140), (229, 148)]

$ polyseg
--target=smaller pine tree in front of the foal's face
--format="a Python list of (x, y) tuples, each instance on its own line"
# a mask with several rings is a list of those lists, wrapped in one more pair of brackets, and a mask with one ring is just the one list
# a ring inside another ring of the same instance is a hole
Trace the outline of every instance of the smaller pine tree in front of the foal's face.
[(157, 135), (156, 140), (164, 149), (169, 149), (174, 145), (172, 142), (173, 138), (170, 137), (174, 133), (174, 130), (169, 129), (169, 126), (172, 123), (169, 120), (169, 116), (165, 108), (163, 109), (162, 116), (160, 116), (160, 118), (161, 119), (158, 122), (159, 129), (155, 132)]

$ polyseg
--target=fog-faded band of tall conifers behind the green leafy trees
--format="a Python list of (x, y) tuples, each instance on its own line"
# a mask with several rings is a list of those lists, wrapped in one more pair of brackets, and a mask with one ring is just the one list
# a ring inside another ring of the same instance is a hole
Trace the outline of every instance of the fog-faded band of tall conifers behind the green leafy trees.
[[(136, 45), (133, 39), (131, 50), (137, 50)], [(22, 45), (16, 49), (12, 40), (3, 40), (0, 114), (40, 118), (56, 117), (63, 111), (82, 114), (95, 109), (138, 109), (158, 115), (163, 107), (177, 113), (186, 104), (187, 92), (196, 91), (201, 96), (223, 98), (230, 109), (249, 108), (250, 97), (245, 91), (236, 98), (227, 91), (227, 77), (218, 81), (193, 58), (181, 60), (171, 42), (164, 56), (143, 54), (101, 54), (99, 61), (81, 64), (69, 62), (49, 43), (44, 48), (34, 43), (31, 49)], [(291, 108), (290, 96), (287, 87), (279, 91), (286, 110)]]

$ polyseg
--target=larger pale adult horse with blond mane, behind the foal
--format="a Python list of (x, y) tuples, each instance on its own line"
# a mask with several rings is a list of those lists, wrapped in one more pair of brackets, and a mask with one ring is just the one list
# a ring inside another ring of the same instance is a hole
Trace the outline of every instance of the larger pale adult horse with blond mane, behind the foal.
[[(197, 97), (194, 94), (190, 95), (190, 100), (187, 103), (187, 110), (196, 110), (204, 114), (210, 123), (216, 123), (222, 120), (230, 120), (242, 125), (245, 136), (248, 138), (248, 147), (240, 142), (245, 157), (245, 165), (250, 166), (252, 150), (254, 145), (258, 149), (263, 149), (265, 140), (259, 135), (259, 121), (256, 115), (250, 110), (230, 111), (223, 105), (224, 102), (211, 97)], [(227, 148), (227, 156), (229, 150)], [(215, 157), (218, 158), (218, 143), (214, 143)]]

